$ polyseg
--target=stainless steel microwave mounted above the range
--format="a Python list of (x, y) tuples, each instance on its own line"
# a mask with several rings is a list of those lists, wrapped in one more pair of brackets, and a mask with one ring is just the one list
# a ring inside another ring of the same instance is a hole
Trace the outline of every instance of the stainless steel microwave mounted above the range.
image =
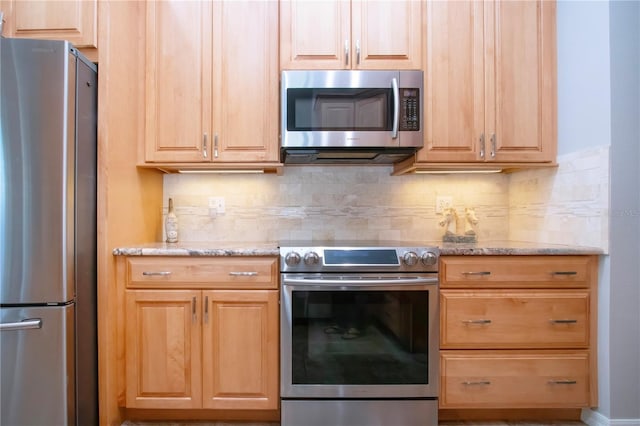
[(424, 144), (422, 99), (422, 71), (283, 71), (281, 161), (401, 161)]

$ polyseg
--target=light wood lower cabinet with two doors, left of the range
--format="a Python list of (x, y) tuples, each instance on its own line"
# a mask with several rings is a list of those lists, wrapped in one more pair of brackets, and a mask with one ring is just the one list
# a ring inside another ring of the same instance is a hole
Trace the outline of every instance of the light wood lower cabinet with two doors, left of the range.
[[(262, 273), (270, 262), (234, 258), (226, 262), (233, 265), (229, 270), (224, 259), (199, 258), (191, 279), (200, 282), (194, 287), (205, 288), (184, 289), (187, 263), (162, 258), (154, 265), (131, 258), (127, 264), (125, 406), (277, 410), (277, 274), (268, 268), (266, 276)], [(223, 288), (207, 289), (207, 274), (212, 287)], [(257, 288), (242, 288), (252, 281)]]

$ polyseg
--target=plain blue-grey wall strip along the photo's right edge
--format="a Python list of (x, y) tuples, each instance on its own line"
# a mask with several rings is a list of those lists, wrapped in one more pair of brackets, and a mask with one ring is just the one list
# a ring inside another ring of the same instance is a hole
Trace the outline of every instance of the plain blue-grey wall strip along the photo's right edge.
[(640, 3), (612, 1), (610, 418), (640, 425)]

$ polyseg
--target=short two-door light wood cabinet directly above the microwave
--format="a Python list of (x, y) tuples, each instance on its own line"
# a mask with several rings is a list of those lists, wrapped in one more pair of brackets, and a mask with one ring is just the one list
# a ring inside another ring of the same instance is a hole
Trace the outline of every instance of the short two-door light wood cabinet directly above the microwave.
[(424, 1), (283, 0), (281, 69), (421, 69)]

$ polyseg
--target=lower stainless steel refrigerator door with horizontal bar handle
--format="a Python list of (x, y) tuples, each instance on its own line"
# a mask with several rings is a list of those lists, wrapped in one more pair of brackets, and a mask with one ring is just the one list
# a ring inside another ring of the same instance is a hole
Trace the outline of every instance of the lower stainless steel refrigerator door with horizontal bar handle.
[(0, 308), (0, 424), (75, 424), (75, 306)]

